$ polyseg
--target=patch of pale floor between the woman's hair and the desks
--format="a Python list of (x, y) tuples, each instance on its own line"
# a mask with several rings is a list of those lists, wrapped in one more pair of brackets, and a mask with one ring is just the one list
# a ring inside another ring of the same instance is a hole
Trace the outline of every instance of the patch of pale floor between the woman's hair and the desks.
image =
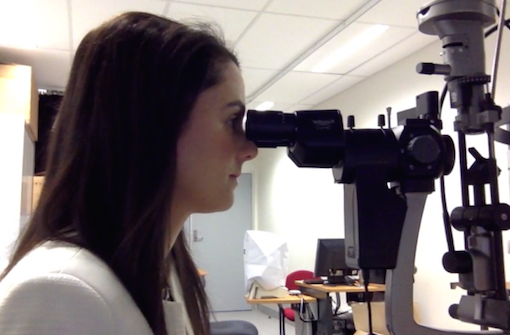
[[(245, 312), (221, 312), (215, 313), (217, 321), (224, 320), (244, 320), (251, 322), (257, 327), (259, 335), (279, 335), (279, 322), (278, 318), (272, 318), (259, 311), (245, 311)], [(285, 333), (287, 335), (294, 335), (294, 327), (285, 323)]]

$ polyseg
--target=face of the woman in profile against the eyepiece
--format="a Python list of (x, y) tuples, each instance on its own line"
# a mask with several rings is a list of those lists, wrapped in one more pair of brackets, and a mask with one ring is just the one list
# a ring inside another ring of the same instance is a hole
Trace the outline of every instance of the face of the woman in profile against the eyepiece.
[(232, 206), (241, 167), (257, 155), (242, 127), (244, 101), (241, 72), (229, 62), (222, 81), (199, 95), (178, 141), (174, 210), (208, 213)]

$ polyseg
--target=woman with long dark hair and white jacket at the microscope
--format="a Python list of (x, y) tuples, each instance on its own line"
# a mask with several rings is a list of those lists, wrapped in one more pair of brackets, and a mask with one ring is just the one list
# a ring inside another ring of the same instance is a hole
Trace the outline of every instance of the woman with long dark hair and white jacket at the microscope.
[(181, 228), (232, 205), (257, 154), (244, 110), (238, 61), (209, 29), (126, 13), (90, 32), (1, 277), (1, 334), (208, 334)]

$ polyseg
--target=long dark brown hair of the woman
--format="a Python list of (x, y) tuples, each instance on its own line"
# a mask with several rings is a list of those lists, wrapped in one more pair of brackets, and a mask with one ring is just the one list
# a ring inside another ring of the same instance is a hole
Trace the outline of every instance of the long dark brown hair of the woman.
[[(166, 334), (170, 204), (176, 146), (198, 95), (238, 64), (221, 38), (146, 13), (126, 13), (81, 42), (49, 147), (39, 205), (3, 278), (48, 240), (105, 261), (154, 334)], [(182, 233), (172, 248), (196, 335), (209, 333), (207, 300)]]

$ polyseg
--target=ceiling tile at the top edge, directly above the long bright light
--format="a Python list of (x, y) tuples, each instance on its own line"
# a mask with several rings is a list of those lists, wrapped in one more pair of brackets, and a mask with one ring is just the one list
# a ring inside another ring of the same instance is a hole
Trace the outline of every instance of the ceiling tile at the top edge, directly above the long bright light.
[(367, 0), (273, 0), (266, 12), (345, 20)]

